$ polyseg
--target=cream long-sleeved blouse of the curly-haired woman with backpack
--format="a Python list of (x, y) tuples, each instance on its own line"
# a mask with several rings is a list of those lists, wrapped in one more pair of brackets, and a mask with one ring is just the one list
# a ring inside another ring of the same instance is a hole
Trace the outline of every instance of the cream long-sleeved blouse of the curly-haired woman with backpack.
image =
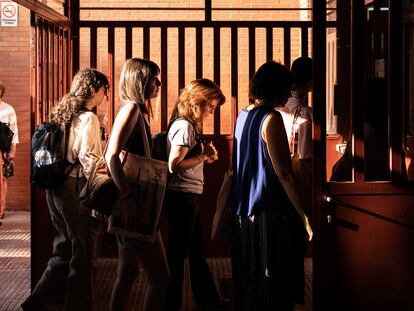
[[(102, 155), (101, 131), (98, 117), (91, 111), (84, 111), (72, 120), (69, 131), (68, 149), (66, 158), (75, 163), (79, 158), (82, 165), (79, 176), (88, 178), (89, 172), (97, 156)], [(77, 170), (73, 169), (70, 176), (76, 177)]]

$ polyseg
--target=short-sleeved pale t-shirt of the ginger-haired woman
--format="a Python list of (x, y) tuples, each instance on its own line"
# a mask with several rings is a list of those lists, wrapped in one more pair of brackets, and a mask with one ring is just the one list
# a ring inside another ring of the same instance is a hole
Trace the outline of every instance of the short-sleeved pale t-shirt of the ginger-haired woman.
[[(194, 126), (187, 120), (174, 121), (167, 136), (167, 153), (170, 154), (172, 146), (185, 146), (191, 150), (196, 144), (196, 132)], [(168, 182), (168, 189), (173, 191), (191, 192), (201, 194), (204, 186), (204, 162), (173, 174)]]

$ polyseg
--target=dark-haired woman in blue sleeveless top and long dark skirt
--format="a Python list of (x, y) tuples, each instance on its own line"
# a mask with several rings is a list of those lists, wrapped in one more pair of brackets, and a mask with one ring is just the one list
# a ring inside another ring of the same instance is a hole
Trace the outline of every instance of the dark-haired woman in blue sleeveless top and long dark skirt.
[(236, 310), (293, 310), (303, 303), (305, 232), (283, 120), (292, 75), (274, 61), (250, 81), (252, 104), (237, 117), (233, 147), (233, 276)]

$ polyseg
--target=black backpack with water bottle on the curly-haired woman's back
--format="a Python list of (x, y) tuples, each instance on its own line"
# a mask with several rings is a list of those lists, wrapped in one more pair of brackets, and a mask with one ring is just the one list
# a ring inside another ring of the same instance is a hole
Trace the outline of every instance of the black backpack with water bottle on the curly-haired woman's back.
[[(34, 187), (43, 189), (55, 189), (60, 187), (72, 169), (79, 163), (66, 160), (70, 120), (62, 129), (55, 122), (43, 122), (35, 130), (31, 141), (32, 167), (30, 183)], [(67, 135), (66, 135), (67, 134)], [(47, 150), (48, 163), (38, 165), (42, 152)], [(50, 162), (50, 163), (49, 163)]]

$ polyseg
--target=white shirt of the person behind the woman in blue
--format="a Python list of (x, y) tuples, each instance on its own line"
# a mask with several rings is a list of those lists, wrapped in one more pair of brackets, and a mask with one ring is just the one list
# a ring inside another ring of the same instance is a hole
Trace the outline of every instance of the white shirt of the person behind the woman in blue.
[[(298, 107), (302, 106), (295, 124), (294, 115)], [(286, 135), (289, 142), (291, 143), (292, 130), (298, 133), (298, 145), (297, 152), (300, 159), (312, 159), (312, 108), (304, 106), (302, 99), (297, 96), (295, 92), (292, 92), (292, 97), (289, 98), (288, 102), (284, 107), (277, 108), (283, 117), (283, 123), (285, 125)], [(293, 133), (294, 134), (294, 133)]]

